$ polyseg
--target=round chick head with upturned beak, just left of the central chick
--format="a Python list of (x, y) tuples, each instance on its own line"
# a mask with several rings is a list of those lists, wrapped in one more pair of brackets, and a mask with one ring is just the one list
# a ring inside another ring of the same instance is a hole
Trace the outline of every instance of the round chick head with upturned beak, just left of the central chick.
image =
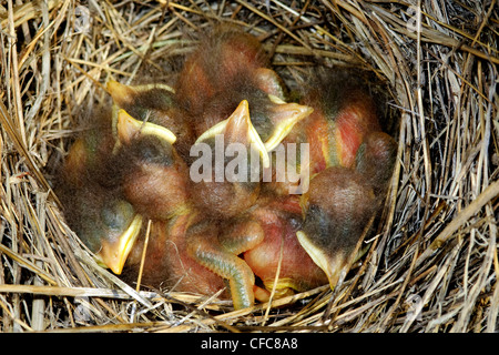
[(112, 158), (115, 179), (126, 200), (147, 219), (167, 220), (187, 209), (189, 170), (169, 129), (118, 112), (120, 148)]

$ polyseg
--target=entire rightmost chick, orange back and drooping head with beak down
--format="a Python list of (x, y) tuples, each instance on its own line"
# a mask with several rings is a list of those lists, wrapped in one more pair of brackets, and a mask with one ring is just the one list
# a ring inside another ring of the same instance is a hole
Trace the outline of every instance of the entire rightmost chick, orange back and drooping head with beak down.
[(348, 71), (319, 78), (303, 103), (314, 113), (289, 140), (309, 143), (309, 189), (302, 195), (298, 241), (326, 273), (342, 283), (386, 193), (396, 143), (380, 131), (377, 108)]

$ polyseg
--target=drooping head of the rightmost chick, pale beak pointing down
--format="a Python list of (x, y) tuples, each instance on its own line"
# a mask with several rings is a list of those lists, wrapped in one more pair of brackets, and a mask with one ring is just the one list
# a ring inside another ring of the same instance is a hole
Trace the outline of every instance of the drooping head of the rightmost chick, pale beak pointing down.
[(373, 222), (373, 189), (354, 170), (332, 166), (312, 179), (301, 203), (304, 223), (296, 235), (334, 288), (344, 281)]

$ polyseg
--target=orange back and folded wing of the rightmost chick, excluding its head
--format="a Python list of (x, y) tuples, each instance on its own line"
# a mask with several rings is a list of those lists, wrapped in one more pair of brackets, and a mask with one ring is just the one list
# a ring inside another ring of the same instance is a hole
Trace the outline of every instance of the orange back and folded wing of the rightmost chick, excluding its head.
[(344, 166), (361, 173), (377, 194), (385, 192), (395, 164), (396, 143), (381, 131), (380, 104), (355, 72), (322, 72), (302, 100), (314, 112), (289, 138), (310, 144), (309, 173)]

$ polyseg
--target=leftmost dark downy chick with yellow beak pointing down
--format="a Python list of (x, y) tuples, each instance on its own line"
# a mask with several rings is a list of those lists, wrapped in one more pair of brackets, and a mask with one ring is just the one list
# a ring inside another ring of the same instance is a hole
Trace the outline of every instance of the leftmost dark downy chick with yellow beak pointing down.
[(106, 156), (114, 140), (110, 125), (105, 126), (86, 132), (73, 143), (55, 191), (80, 240), (101, 264), (120, 274), (139, 235), (142, 216), (109, 179)]

